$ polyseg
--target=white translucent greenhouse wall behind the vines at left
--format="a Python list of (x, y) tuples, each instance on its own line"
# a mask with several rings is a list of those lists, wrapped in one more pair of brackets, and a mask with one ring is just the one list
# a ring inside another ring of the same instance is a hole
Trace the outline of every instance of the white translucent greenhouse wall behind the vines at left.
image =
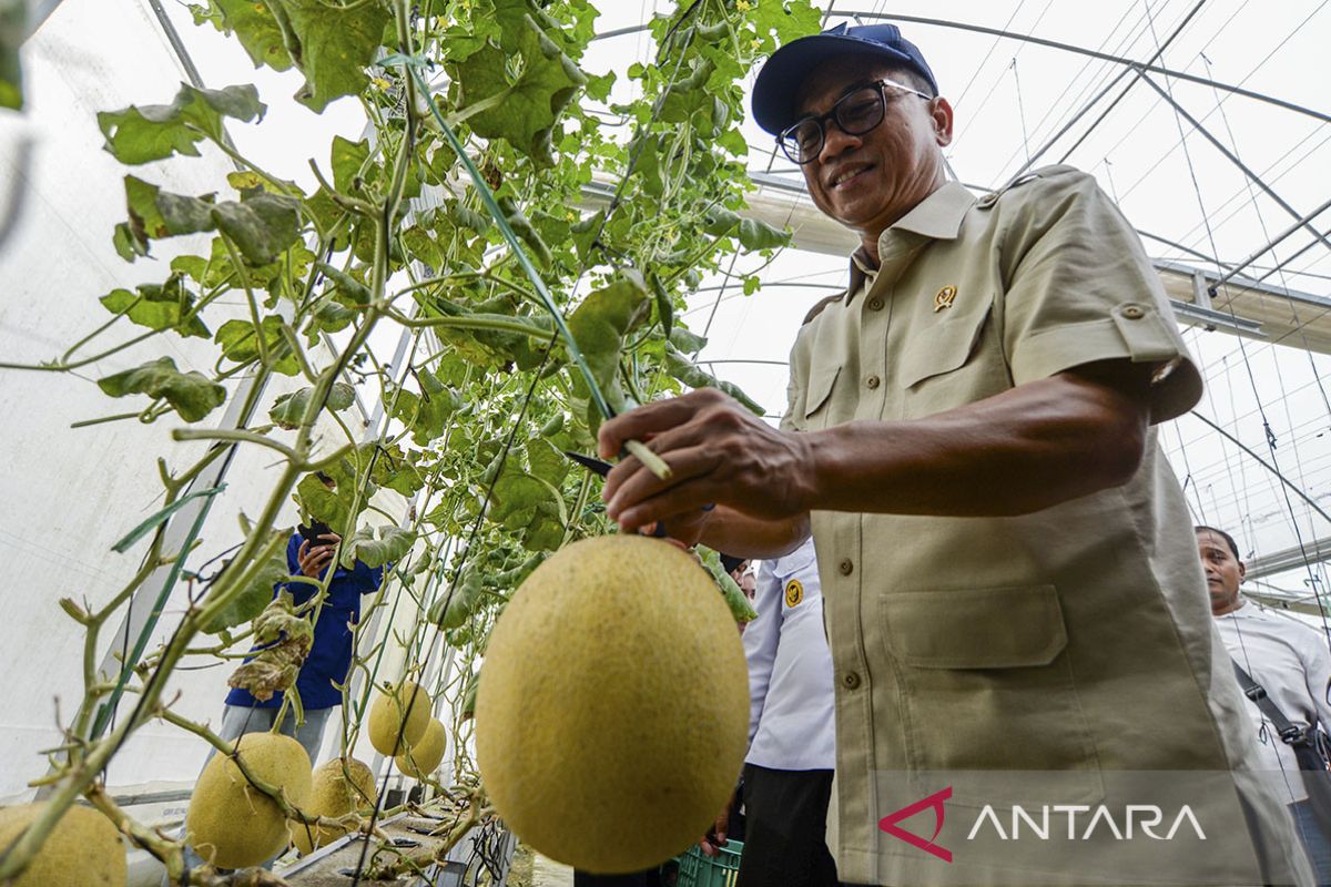
[[(160, 279), (173, 250), (193, 251), (204, 243), (206, 251), (206, 241), (166, 241), (154, 245), (150, 259), (133, 265), (116, 254), (110, 241), (114, 225), (125, 219), (126, 170), (101, 150), (96, 114), (130, 104), (168, 102), (185, 77), (148, 4), (65, 0), (27, 41), (23, 61), (25, 113), (0, 118), (0, 164), (5, 169), (0, 201), (17, 201), (21, 211), (11, 237), (0, 243), (0, 359), (40, 363), (59, 358), (109, 319), (97, 303), (101, 295), (154, 275)], [(281, 101), (291, 89), (269, 92)], [(201, 160), (168, 160), (133, 172), (164, 189), (197, 194), (214, 190), (233, 169), (226, 157), (213, 152)], [(244, 301), (233, 307), (245, 311)], [(140, 331), (125, 324), (120, 336)], [(120, 336), (110, 340), (118, 342)], [(144, 398), (112, 400), (95, 380), (158, 356), (164, 346), (182, 371), (212, 371), (216, 346), (209, 340), (160, 336), (141, 350), (129, 348), (76, 375), (3, 374), (0, 410), (7, 422), (0, 556), (9, 581), (0, 592), (0, 673), (8, 676), (0, 694), (0, 759), (5, 761), (0, 767), (0, 803), (32, 795), (27, 783), (44, 771), (39, 751), (63, 741), (56, 727), (57, 707), (68, 718), (81, 697), (83, 630), (57, 606), (57, 600), (87, 600), (97, 608), (129, 580), (140, 567), (148, 539), (124, 555), (113, 553), (110, 547), (161, 507), (154, 457), (162, 455), (169, 465), (181, 467), (206, 445), (172, 443), (170, 428), (178, 424), (170, 420), (174, 416), (146, 426), (129, 419), (69, 427), (142, 408)], [(266, 416), (277, 396), (297, 387), (295, 380), (277, 379), (264, 394), (260, 418)], [(237, 387), (236, 380), (228, 384), (228, 404)], [(366, 408), (373, 411), (373, 403)], [(216, 427), (224, 412), (217, 410), (202, 426)], [(357, 408), (346, 415), (354, 427), (363, 424), (365, 416)], [(331, 426), (321, 432), (330, 447), (337, 445)], [(242, 539), (236, 516), (261, 508), (272, 488), (272, 453), (260, 448), (236, 453), (225, 479), (228, 487), (216, 496), (192, 565)], [(406, 503), (391, 492), (374, 504), (399, 516), (406, 511)], [(291, 525), (295, 520), (289, 503), (278, 524)], [(149, 650), (178, 622), (188, 592), (185, 582), (174, 589)], [(137, 600), (134, 606), (149, 606), (149, 601)], [(98, 661), (117, 625), (113, 621), (104, 630)], [(381, 632), (387, 629), (383, 622)], [(401, 656), (398, 662), (393, 657), (390, 649), (379, 674), (399, 668)], [(177, 669), (165, 698), (176, 698), (173, 707), (185, 717), (212, 719), (216, 726), (229, 672), (222, 664)], [(133, 697), (126, 696), (121, 714), (132, 705)], [(338, 733), (330, 726), (326, 743), (334, 745)], [(367, 742), (359, 747), (369, 759)], [(192, 786), (206, 751), (198, 737), (150, 722), (116, 757), (108, 785), (116, 793)]]

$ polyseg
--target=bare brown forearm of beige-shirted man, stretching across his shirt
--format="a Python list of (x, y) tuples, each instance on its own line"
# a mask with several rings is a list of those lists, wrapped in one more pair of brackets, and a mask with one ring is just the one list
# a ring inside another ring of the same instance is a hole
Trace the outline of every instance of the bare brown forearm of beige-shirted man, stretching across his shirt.
[(1125, 483), (1146, 414), (1119, 390), (1062, 374), (913, 422), (807, 435), (812, 511), (993, 516)]

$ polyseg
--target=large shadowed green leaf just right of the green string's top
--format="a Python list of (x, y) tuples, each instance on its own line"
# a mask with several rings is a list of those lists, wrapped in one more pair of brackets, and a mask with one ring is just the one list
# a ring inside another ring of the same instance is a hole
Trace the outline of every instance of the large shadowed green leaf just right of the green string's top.
[[(495, 0), (499, 45), (457, 65), (459, 110), (482, 138), (503, 138), (540, 164), (552, 162), (551, 130), (587, 77), (530, 15), (527, 0)], [(520, 57), (520, 65), (515, 61)], [(512, 70), (520, 70), (511, 77)], [(482, 110), (476, 110), (486, 102)]]

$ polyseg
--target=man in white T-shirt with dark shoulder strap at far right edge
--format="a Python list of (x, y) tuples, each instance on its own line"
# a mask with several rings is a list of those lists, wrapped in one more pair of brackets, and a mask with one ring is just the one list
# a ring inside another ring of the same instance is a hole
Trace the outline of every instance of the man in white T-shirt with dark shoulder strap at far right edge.
[[(1327, 640), (1302, 622), (1248, 604), (1239, 594), (1247, 569), (1234, 537), (1214, 527), (1197, 527), (1197, 545), (1206, 569), (1215, 628), (1230, 657), (1266, 690), (1275, 707), (1303, 731), (1331, 725), (1331, 652)], [(1299, 773), (1294, 749), (1258, 703), (1248, 701), (1264, 770), (1278, 781), (1319, 884), (1331, 884), (1331, 823), (1319, 822)]]

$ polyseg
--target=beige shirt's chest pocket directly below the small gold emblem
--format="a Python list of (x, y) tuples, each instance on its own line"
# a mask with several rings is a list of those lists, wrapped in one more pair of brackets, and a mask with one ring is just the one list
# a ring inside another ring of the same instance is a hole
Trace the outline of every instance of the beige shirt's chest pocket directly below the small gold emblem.
[(968, 314), (914, 324), (896, 370), (904, 419), (930, 416), (1010, 387), (992, 313), (986, 302)]

